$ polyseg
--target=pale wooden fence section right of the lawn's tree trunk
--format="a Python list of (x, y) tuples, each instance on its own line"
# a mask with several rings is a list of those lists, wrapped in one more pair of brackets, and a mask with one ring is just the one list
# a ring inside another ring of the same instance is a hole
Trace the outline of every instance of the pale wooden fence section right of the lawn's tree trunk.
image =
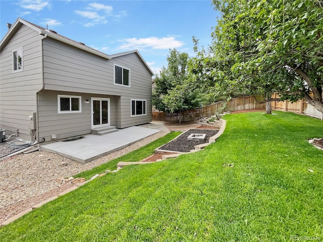
[[(312, 94), (310, 94), (312, 95)], [(278, 98), (279, 95), (277, 93), (272, 94), (272, 98)], [(272, 109), (280, 110), (280, 111), (288, 111), (288, 112), (295, 112), (305, 114), (307, 116), (316, 117), (323, 120), (323, 113), (318, 111), (315, 107), (311, 104), (306, 102), (303, 99), (298, 100), (297, 102), (291, 101), (273, 101), (272, 102)]]

